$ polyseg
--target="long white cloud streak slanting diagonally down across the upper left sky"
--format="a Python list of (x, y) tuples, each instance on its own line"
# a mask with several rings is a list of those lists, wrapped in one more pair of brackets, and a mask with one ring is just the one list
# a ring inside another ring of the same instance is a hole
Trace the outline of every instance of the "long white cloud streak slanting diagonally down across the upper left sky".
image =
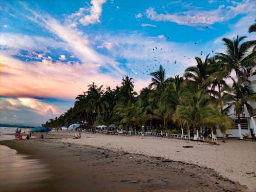
[(82, 31), (65, 26), (50, 15), (44, 14), (43, 16), (29, 8), (26, 9), (33, 14), (33, 17), (28, 18), (66, 42), (66, 47), (71, 50), (72, 55), (76, 56), (82, 64), (94, 64), (95, 68), (100, 66), (110, 68), (111, 66), (111, 68), (115, 69), (117, 74), (124, 73), (118, 67), (118, 62), (106, 55), (97, 53), (94, 50), (91, 41), (88, 39), (88, 36)]

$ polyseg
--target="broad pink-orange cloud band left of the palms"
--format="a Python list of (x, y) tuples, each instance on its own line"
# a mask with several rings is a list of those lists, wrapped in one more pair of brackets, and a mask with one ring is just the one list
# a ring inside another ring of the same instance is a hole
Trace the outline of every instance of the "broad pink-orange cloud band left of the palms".
[(41, 62), (24, 62), (1, 52), (0, 63), (0, 95), (9, 97), (74, 99), (87, 91), (88, 84), (93, 81), (114, 88), (122, 75), (102, 74), (99, 66), (89, 63), (54, 62), (48, 57)]

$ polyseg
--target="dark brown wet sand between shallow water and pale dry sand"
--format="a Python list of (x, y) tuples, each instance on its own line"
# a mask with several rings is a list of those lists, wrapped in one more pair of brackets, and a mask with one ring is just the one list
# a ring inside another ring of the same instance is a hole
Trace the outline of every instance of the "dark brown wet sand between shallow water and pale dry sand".
[(42, 185), (15, 191), (247, 191), (238, 182), (195, 164), (48, 138), (0, 141), (49, 169)]

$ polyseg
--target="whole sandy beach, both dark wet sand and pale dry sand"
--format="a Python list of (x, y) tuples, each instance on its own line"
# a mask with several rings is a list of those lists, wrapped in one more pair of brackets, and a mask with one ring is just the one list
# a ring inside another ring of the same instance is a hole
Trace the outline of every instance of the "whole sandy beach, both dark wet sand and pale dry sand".
[[(193, 148), (183, 148), (188, 143), (180, 140), (84, 133), (81, 139), (76, 140), (71, 138), (73, 134), (51, 132), (45, 134), (44, 140), (0, 141), (0, 144), (14, 148), (18, 153), (29, 155), (28, 158), (38, 159), (49, 170), (49, 178), (42, 181), (43, 185), (26, 188), (26, 191), (254, 190), (255, 177), (242, 175), (247, 170), (240, 173), (241, 169), (228, 166), (227, 161), (221, 163), (230, 158), (228, 154), (214, 159), (217, 162), (209, 161), (211, 156), (208, 154), (222, 151), (223, 145), (190, 142)], [(247, 143), (250, 145), (249, 141), (245, 143), (245, 146), (248, 146)], [(227, 147), (221, 154), (228, 151)], [(207, 155), (201, 157), (204, 152)], [(244, 153), (248, 155), (249, 152)], [(209, 165), (211, 163), (216, 166), (214, 170)], [(224, 170), (218, 171), (220, 167), (229, 169), (228, 174), (223, 174), (226, 173)], [(246, 185), (245, 177), (250, 181), (247, 182), (249, 189), (242, 186)]]

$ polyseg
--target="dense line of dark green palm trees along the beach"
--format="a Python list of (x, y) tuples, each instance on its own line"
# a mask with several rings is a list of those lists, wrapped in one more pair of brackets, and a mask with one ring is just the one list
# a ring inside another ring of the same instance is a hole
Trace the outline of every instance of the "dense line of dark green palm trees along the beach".
[[(249, 32), (255, 32), (255, 24)], [(223, 38), (225, 53), (207, 55), (203, 60), (196, 57), (197, 66), (188, 67), (183, 76), (167, 78), (160, 65), (159, 70), (150, 74), (152, 82), (139, 94), (134, 91), (133, 78), (129, 76), (122, 78), (121, 86), (108, 87), (105, 91), (93, 82), (87, 92), (76, 97), (73, 108), (44, 125), (104, 124), (109, 129), (110, 124), (115, 124), (119, 129), (131, 131), (141, 130), (145, 125), (151, 131), (168, 133), (183, 127), (194, 135), (202, 128), (218, 126), (224, 136), (232, 123), (228, 114), (233, 111), (240, 130), (244, 107), (252, 116), (249, 103), (256, 101), (247, 77), (256, 66), (256, 41), (245, 39), (245, 36)], [(232, 71), (236, 74), (233, 77)]]

